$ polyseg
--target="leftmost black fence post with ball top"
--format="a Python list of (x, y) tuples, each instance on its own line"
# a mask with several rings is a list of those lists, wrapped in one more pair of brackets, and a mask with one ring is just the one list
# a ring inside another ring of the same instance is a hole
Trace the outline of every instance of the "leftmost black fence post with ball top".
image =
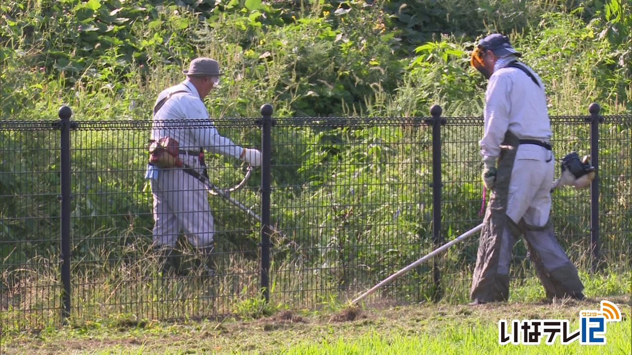
[(73, 111), (67, 105), (59, 107), (58, 116), (61, 120), (59, 128), (61, 128), (61, 282), (63, 284), (63, 292), (61, 302), (62, 322), (66, 322), (66, 318), (70, 316), (70, 129), (74, 128), (70, 122), (70, 116)]

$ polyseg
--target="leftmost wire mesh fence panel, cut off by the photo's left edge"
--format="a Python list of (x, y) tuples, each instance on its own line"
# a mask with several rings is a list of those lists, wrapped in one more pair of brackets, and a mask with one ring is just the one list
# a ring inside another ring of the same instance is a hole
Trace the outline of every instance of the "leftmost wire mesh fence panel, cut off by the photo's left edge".
[(0, 328), (56, 325), (61, 315), (56, 122), (0, 122), (0, 161)]

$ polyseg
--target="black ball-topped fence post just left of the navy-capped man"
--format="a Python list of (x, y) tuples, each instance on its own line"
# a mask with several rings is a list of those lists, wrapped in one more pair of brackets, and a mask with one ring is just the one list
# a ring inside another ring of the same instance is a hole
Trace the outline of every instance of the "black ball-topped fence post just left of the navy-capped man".
[[(427, 123), (432, 124), (432, 243), (434, 249), (441, 246), (441, 125), (446, 124), (446, 120), (441, 118), (443, 109), (440, 105), (430, 107), (432, 119)], [(439, 262), (433, 260), (432, 274), (434, 279), (433, 299), (439, 301), (442, 297), (441, 273)]]

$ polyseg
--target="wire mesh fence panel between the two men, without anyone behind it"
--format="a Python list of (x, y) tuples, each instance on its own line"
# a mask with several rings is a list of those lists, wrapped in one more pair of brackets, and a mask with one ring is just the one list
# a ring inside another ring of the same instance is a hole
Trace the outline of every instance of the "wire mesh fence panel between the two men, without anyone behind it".
[[(432, 250), (431, 141), (422, 119), (283, 119), (272, 144), (281, 301), (313, 307), (349, 298)], [(431, 286), (420, 267), (381, 295), (417, 301)]]

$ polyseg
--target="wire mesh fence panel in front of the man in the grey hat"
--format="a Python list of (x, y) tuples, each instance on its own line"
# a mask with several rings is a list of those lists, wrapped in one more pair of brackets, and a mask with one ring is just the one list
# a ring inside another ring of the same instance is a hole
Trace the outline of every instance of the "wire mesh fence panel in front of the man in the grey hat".
[[(222, 120), (216, 124), (221, 134), (235, 143), (258, 145), (258, 128), (253, 120)], [(193, 126), (202, 130), (211, 127), (202, 121), (189, 121), (172, 124), (169, 129)], [(73, 132), (75, 318), (123, 314), (164, 320), (227, 315), (243, 299), (257, 296), (257, 220), (248, 218), (247, 211), (228, 203), (214, 190), (210, 190), (214, 195), (209, 193), (192, 176), (174, 175), (173, 181), (166, 182), (168, 196), (162, 198), (172, 209), (159, 213), (168, 227), (161, 227), (154, 238), (152, 184), (145, 179), (150, 128), (150, 122), (142, 121), (85, 122)], [(179, 159), (197, 167), (199, 150), (199, 145), (179, 147)], [(234, 157), (207, 152), (204, 159), (210, 183), (207, 186), (220, 190), (239, 183), (247, 172)], [(242, 203), (243, 208), (256, 210), (258, 173), (252, 176), (229, 197)], [(176, 196), (186, 199), (179, 202), (184, 205), (197, 203), (197, 198), (207, 200), (208, 205), (193, 212), (178, 210)], [(204, 219), (200, 214), (212, 217)], [(214, 250), (209, 256), (204, 238), (211, 234)], [(164, 248), (157, 248), (158, 241)], [(164, 268), (169, 263), (166, 250), (171, 252), (168, 258), (178, 260), (173, 270)]]

